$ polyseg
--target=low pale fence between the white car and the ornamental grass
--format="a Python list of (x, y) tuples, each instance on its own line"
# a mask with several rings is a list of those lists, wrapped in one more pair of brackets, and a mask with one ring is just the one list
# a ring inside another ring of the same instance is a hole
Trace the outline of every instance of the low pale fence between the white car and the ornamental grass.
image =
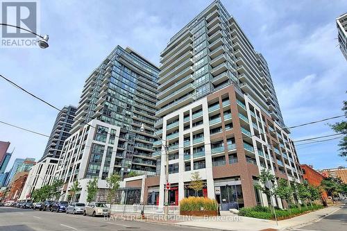
[[(169, 214), (179, 214), (180, 207), (169, 205)], [(144, 208), (146, 214), (164, 214), (164, 206), (158, 205), (111, 205), (111, 212), (141, 213)]]

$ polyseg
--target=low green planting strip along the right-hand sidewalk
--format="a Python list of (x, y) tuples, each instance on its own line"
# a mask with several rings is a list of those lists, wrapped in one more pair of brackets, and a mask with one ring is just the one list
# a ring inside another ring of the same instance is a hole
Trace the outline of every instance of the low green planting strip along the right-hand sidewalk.
[[(298, 207), (292, 207), (289, 210), (276, 209), (276, 216), (278, 220), (289, 219), (294, 216), (305, 214), (307, 212), (312, 212), (318, 209), (323, 209), (323, 205), (312, 205), (312, 206), (302, 206), (301, 209)], [(255, 207), (243, 207), (239, 210), (240, 216), (254, 217), (257, 219), (273, 220), (275, 215), (271, 213), (269, 207), (255, 206)]]

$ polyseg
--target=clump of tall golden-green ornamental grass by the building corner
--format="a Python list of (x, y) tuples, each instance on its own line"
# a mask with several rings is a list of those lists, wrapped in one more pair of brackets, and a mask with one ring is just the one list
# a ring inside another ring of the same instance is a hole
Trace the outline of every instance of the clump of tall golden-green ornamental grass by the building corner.
[(189, 196), (180, 200), (180, 211), (217, 211), (218, 205), (216, 200), (204, 197)]

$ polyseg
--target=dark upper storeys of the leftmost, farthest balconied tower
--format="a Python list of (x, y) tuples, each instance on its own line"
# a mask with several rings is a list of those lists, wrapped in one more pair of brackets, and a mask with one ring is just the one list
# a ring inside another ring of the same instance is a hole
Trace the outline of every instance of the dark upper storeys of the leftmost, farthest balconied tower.
[(69, 137), (71, 125), (74, 122), (75, 112), (76, 107), (69, 105), (62, 108), (58, 113), (42, 159), (45, 157), (60, 157), (62, 145), (64, 144), (65, 139)]

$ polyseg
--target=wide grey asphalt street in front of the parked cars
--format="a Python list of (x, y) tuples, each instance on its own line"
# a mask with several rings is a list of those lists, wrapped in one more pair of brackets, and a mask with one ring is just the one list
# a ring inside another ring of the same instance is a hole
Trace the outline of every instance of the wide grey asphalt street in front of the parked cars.
[(0, 231), (162, 231), (194, 230), (174, 225), (163, 225), (142, 221), (119, 221), (103, 217), (43, 212), (33, 209), (0, 207)]

